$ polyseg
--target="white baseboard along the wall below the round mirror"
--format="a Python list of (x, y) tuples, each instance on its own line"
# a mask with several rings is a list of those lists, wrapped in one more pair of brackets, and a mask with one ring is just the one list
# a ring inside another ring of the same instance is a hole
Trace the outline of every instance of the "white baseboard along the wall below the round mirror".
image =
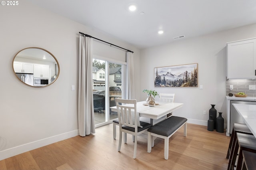
[(74, 136), (78, 136), (79, 132), (78, 130), (73, 130), (70, 132), (66, 132), (66, 133), (62, 133), (62, 134), (58, 134), (56, 136), (51, 136), (49, 138), (44, 138), (41, 140), (37, 140), (34, 142), (30, 142), (27, 144), (23, 144), (20, 146), (16, 146), (13, 148), (9, 148), (6, 150), (2, 150), (0, 151), (0, 160), (4, 160), (6, 158), (10, 158), (11, 156), (15, 156), (24, 152), (28, 152), (30, 150), (36, 149), (36, 148), (40, 148), (42, 146), (46, 146), (48, 144), (52, 144), (55, 142), (59, 142), (61, 140), (67, 139), (67, 138), (72, 138)]

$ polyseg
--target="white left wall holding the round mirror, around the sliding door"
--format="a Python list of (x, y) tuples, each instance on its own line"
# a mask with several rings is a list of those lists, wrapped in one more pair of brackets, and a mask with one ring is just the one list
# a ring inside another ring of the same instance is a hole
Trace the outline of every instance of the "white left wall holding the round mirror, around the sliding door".
[[(1, 6), (0, 23), (0, 160), (78, 135), (78, 32), (134, 51), (139, 72), (136, 47), (25, 0), (18, 6)], [(30, 87), (17, 79), (12, 59), (26, 47), (41, 47), (56, 57), (60, 75), (52, 85)]]

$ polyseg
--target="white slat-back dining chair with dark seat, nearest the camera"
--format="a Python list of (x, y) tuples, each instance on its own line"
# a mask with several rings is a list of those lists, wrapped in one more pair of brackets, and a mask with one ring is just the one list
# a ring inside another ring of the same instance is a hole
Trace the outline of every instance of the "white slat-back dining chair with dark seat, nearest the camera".
[[(116, 98), (116, 108), (119, 121), (119, 144), (118, 152), (121, 150), (122, 145), (122, 133), (134, 135), (134, 154), (133, 158), (136, 158), (137, 152), (137, 138), (139, 134), (142, 134), (152, 127), (150, 123), (140, 122), (139, 115), (137, 113), (137, 101), (134, 99), (118, 99)], [(126, 142), (125, 142), (126, 143)]]

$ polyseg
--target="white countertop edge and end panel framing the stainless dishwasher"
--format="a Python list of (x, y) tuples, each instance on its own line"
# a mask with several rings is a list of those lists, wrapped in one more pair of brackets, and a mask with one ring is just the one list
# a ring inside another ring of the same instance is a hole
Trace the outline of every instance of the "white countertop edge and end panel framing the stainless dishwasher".
[(230, 136), (230, 101), (253, 101), (256, 102), (256, 97), (235, 97), (235, 96), (226, 96), (226, 111), (227, 111), (227, 128), (226, 128), (226, 136)]

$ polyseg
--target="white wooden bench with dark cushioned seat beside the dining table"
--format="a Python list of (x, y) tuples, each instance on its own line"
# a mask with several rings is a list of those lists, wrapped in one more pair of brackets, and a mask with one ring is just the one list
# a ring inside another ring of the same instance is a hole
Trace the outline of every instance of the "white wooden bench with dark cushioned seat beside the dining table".
[(187, 136), (187, 120), (183, 117), (171, 116), (148, 129), (148, 153), (151, 152), (153, 137), (164, 139), (164, 159), (168, 160), (169, 138), (184, 125), (184, 136)]

